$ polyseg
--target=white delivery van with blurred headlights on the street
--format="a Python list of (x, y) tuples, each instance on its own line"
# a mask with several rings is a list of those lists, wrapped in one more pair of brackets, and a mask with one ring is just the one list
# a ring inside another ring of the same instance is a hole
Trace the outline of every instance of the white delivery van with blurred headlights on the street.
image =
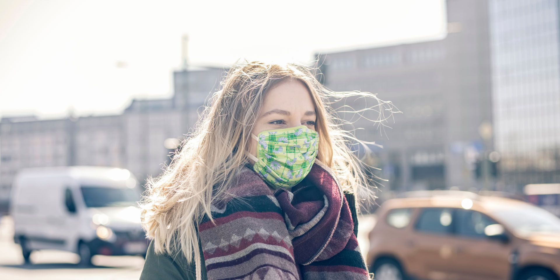
[(142, 190), (126, 169), (100, 166), (21, 169), (10, 213), (14, 241), (26, 263), (32, 250), (58, 249), (91, 256), (146, 255), (148, 240), (136, 206)]

